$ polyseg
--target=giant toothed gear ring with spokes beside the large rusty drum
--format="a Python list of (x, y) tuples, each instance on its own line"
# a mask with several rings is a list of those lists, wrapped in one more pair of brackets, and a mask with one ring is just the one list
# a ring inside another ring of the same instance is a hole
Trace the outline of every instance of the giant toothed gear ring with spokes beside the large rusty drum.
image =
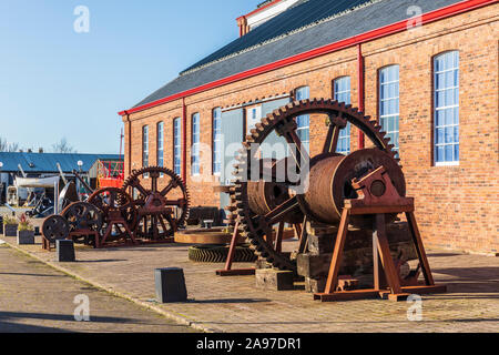
[[(269, 113), (266, 118), (262, 119), (261, 123), (257, 123), (255, 129), (251, 130), (251, 134), (246, 136), (246, 141), (243, 143), (243, 149), (237, 156), (237, 163), (234, 165), (235, 172), (235, 186), (231, 191), (231, 197), (236, 201), (236, 213), (240, 217), (242, 227), (245, 232), (245, 236), (251, 242), (255, 253), (261, 257), (267, 260), (274, 267), (281, 270), (289, 270), (296, 272), (296, 261), (289, 257), (289, 254), (279, 253), (274, 250), (271, 244), (267, 244), (265, 235), (268, 235), (269, 230), (275, 223), (283, 222), (283, 216), (296, 214), (302, 210), (305, 215), (306, 206), (303, 204), (303, 199), (299, 194), (288, 195), (287, 200), (279, 201), (278, 206), (267, 206), (268, 212), (262, 215), (262, 212), (252, 211), (251, 201), (252, 193), (248, 194), (248, 190), (254, 190), (254, 183), (251, 181), (251, 162), (256, 160), (256, 152), (252, 150), (252, 144), (262, 144), (264, 140), (272, 133), (276, 132), (279, 136), (283, 136), (288, 145), (295, 144), (296, 150), (295, 159), (298, 169), (299, 161), (309, 162), (313, 160), (308, 156), (305, 149), (299, 149), (302, 142), (297, 135), (296, 118), (304, 114), (326, 114), (328, 115), (327, 125), (328, 132), (323, 146), (323, 152), (317, 156), (327, 154), (329, 156), (339, 155), (336, 153), (337, 141), (339, 136), (339, 130), (345, 128), (347, 122), (358, 128), (365, 135), (374, 143), (374, 145), (386, 152), (389, 159), (394, 159), (396, 162), (396, 152), (393, 150), (394, 145), (390, 144), (389, 139), (386, 138), (386, 133), (381, 132), (381, 126), (375, 120), (370, 120), (369, 116), (365, 116), (358, 109), (339, 103), (334, 100), (314, 99), (292, 102), (274, 112)], [(315, 159), (314, 158), (314, 159)], [(301, 160), (303, 159), (303, 160)], [(262, 160), (261, 160), (262, 164)], [(265, 173), (264, 173), (265, 174)], [(262, 180), (262, 174), (261, 178)], [(274, 181), (274, 179), (272, 180)], [(282, 184), (275, 183), (275, 186)], [(289, 187), (288, 185), (287, 187)], [(400, 187), (405, 193), (405, 183)], [(287, 193), (287, 192), (286, 192)], [(285, 221), (289, 223), (288, 221)], [(303, 226), (305, 227), (305, 226)]]

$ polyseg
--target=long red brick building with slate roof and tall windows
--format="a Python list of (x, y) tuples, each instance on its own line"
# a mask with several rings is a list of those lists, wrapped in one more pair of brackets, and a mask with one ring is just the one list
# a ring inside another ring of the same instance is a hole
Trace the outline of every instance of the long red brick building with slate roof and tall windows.
[[(498, 253), (498, 19), (491, 0), (266, 1), (241, 38), (120, 112), (125, 175), (163, 164), (192, 205), (223, 205), (230, 143), (292, 100), (334, 98), (391, 138), (426, 243)], [(298, 125), (317, 154), (324, 120)], [(338, 150), (361, 144), (348, 128)]]

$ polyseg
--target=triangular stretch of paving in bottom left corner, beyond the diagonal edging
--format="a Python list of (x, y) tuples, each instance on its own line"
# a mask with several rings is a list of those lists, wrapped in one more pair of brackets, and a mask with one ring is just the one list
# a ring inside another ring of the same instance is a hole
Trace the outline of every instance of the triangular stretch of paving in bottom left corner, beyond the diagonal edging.
[[(73, 303), (77, 295), (89, 297), (90, 322), (74, 321), (74, 308), (79, 306)], [(193, 329), (3, 245), (0, 246), (0, 333), (6, 332), (183, 333)]]

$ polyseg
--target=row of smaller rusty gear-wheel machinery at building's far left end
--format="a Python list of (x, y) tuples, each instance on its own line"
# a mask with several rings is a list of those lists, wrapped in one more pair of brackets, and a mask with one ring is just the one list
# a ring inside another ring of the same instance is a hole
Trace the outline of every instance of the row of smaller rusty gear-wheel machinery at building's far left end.
[[(165, 179), (162, 190), (160, 179)], [(111, 243), (172, 242), (189, 215), (189, 191), (182, 179), (165, 168), (133, 171), (122, 189), (92, 191), (86, 184), (85, 187), (91, 192), (88, 201), (73, 202), (60, 215), (45, 219), (44, 248), (50, 250), (57, 239), (67, 237), (94, 247)]]

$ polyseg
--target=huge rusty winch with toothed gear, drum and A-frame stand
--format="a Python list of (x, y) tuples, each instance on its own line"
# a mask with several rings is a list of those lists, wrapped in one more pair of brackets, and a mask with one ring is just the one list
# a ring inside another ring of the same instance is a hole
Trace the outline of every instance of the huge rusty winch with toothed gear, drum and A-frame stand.
[[(324, 115), (328, 126), (322, 151), (315, 156), (309, 156), (297, 132), (296, 118), (305, 114)], [(373, 148), (348, 155), (336, 152), (339, 131), (348, 122), (364, 132)], [(257, 149), (274, 132), (285, 139), (292, 152), (279, 161), (262, 159), (262, 152)], [(419, 287), (419, 293), (444, 291), (434, 284), (414, 219), (414, 200), (406, 197), (406, 181), (399, 160), (377, 121), (350, 105), (332, 100), (293, 102), (256, 124), (243, 146), (235, 164), (235, 185), (231, 189), (231, 197), (235, 201), (232, 217), (240, 221), (256, 254), (274, 267), (297, 270), (296, 253), (284, 253), (276, 247), (276, 241), (272, 237), (276, 225), (282, 229), (284, 224), (302, 224), (298, 253), (304, 253), (307, 247), (307, 223), (335, 226), (337, 235), (326, 290), (316, 296), (333, 301), (389, 293), (390, 298), (403, 298), (407, 296), (408, 288), (400, 286), (404, 282), (397, 275), (399, 264), (394, 263), (390, 256), (385, 231), (399, 213), (406, 213), (418, 254), (418, 268), (425, 276), (424, 285), (415, 280), (410, 286)], [(277, 180), (278, 169), (284, 166), (289, 171), (291, 165), (301, 180), (292, 181), (288, 175)], [(299, 191), (297, 186), (305, 180), (308, 189)], [(347, 233), (355, 229), (371, 231), (368, 235), (374, 242), (374, 287), (365, 292), (345, 291), (348, 287), (340, 290), (344, 285), (356, 284), (348, 281), (349, 277), (339, 275), (344, 247), (348, 242)], [(378, 262), (383, 267), (378, 267)], [(387, 287), (381, 285), (385, 281)]]

